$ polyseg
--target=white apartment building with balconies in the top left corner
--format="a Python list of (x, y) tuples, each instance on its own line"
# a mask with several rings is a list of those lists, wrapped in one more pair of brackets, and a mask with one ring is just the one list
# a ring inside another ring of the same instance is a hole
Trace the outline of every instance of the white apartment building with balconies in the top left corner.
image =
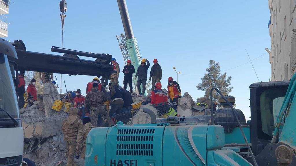
[(8, 36), (8, 24), (4, 14), (9, 13), (9, 0), (0, 0), (0, 38)]

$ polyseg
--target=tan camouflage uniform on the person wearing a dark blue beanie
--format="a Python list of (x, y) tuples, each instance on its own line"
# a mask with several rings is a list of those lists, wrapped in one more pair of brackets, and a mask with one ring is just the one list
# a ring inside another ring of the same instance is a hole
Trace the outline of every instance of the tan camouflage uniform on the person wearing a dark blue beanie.
[(76, 141), (76, 155), (78, 156), (79, 154), (81, 154), (81, 158), (85, 157), (86, 137), (92, 128), (94, 128), (94, 126), (92, 126), (92, 124), (88, 122), (85, 123), (85, 125), (83, 125), (83, 128), (78, 132)]

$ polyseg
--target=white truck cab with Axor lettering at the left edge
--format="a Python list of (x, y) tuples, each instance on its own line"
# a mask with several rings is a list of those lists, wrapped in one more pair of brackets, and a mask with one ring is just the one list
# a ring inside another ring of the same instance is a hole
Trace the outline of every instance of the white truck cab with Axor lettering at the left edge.
[[(0, 38), (0, 165), (20, 166), (23, 155), (23, 128), (17, 104), (17, 81), (14, 64), (8, 56), (17, 59), (15, 48)], [(24, 163), (25, 165), (25, 163)]]

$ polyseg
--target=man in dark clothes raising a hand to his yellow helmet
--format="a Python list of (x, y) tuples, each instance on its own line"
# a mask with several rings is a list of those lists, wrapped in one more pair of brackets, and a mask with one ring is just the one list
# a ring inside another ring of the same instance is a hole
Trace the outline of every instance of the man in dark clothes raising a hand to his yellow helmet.
[[(146, 61), (147, 61), (147, 65), (146, 65)], [(150, 66), (150, 63), (147, 59), (143, 59), (141, 65), (139, 66), (137, 72), (136, 72), (136, 76), (135, 79), (137, 79), (138, 77), (138, 81), (137, 81), (137, 88), (139, 91), (139, 96), (143, 96), (145, 94), (146, 91), (146, 82), (147, 82), (147, 72), (148, 72), (148, 68)], [(141, 86), (142, 84), (142, 92), (141, 92)]]

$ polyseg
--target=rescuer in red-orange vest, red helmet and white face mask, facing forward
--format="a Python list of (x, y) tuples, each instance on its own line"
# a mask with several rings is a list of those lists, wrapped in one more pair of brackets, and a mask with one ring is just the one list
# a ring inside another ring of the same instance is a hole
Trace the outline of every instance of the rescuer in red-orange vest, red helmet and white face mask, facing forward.
[(168, 98), (173, 108), (178, 111), (178, 99), (181, 98), (181, 89), (179, 84), (172, 77), (168, 78)]

